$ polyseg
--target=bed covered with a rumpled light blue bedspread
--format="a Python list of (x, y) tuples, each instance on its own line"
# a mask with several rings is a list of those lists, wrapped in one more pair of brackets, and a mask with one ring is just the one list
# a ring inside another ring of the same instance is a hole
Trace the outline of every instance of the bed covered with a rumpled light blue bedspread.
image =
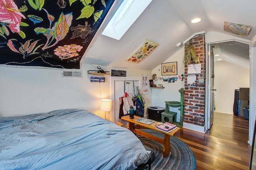
[(0, 118), (1, 170), (131, 170), (149, 160), (130, 130), (86, 110)]

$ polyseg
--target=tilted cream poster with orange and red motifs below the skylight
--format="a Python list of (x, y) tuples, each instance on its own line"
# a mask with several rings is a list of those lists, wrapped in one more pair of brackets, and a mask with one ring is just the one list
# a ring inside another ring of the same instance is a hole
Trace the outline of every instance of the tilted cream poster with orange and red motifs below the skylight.
[(159, 44), (150, 41), (149, 39), (146, 39), (144, 43), (140, 46), (140, 48), (131, 55), (128, 59), (126, 59), (127, 62), (130, 63), (140, 63), (144, 59), (146, 59), (153, 51), (159, 46)]

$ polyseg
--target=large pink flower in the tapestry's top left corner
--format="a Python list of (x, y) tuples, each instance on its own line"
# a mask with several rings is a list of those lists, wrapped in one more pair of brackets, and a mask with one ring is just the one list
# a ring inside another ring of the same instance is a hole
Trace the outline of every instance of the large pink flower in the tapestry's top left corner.
[(13, 0), (0, 0), (0, 22), (7, 23), (12, 32), (20, 33), (21, 14)]

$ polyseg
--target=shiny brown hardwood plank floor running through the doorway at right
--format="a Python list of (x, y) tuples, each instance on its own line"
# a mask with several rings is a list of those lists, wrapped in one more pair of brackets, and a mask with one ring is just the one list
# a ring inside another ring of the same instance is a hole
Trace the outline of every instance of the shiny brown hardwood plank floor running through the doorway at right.
[(248, 133), (244, 117), (214, 113), (214, 123), (205, 134), (182, 128), (174, 136), (194, 152), (197, 170), (248, 170)]

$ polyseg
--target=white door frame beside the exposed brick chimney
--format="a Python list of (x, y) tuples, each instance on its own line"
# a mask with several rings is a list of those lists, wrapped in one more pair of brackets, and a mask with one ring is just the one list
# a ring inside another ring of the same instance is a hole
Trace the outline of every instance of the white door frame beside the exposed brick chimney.
[[(209, 54), (209, 52), (210, 51), (208, 51), (208, 45), (210, 45), (210, 44), (216, 44), (216, 43), (225, 43), (225, 42), (229, 42), (229, 41), (237, 41), (237, 42), (240, 42), (240, 43), (244, 43), (244, 44), (248, 44), (249, 45), (249, 55), (251, 56), (251, 45), (250, 45), (250, 43), (249, 42), (246, 42), (246, 41), (241, 41), (241, 40), (238, 40), (238, 39), (228, 39), (228, 40), (224, 40), (224, 41), (215, 41), (215, 42), (210, 42), (210, 43), (206, 43), (206, 45), (205, 45), (205, 50), (206, 50), (206, 52), (205, 52), (205, 58), (206, 58), (206, 75), (205, 75), (205, 99), (206, 99), (206, 101), (205, 101), (205, 120), (204, 120), (204, 122), (205, 122), (205, 131), (207, 131), (208, 130), (208, 125), (210, 124), (210, 84), (209, 84), (209, 82), (210, 82), (210, 77), (211, 77), (211, 73), (210, 73), (210, 60), (209, 60), (209, 58), (208, 58), (208, 54)], [(207, 42), (207, 41), (206, 41)], [(251, 60), (251, 57), (250, 57), (250, 60)], [(251, 61), (250, 61), (250, 65), (251, 65)], [(250, 67), (250, 71), (251, 71), (251, 67)], [(250, 81), (251, 81), (251, 76), (250, 76)], [(250, 87), (251, 88), (251, 87)], [(251, 98), (251, 96), (250, 96), (250, 98)], [(250, 100), (250, 99), (249, 99)], [(250, 120), (249, 120), (250, 121)], [(249, 122), (250, 123), (250, 122)], [(250, 133), (250, 126), (249, 126), (249, 133)], [(248, 134), (249, 135), (249, 141), (250, 141), (250, 134)]]

